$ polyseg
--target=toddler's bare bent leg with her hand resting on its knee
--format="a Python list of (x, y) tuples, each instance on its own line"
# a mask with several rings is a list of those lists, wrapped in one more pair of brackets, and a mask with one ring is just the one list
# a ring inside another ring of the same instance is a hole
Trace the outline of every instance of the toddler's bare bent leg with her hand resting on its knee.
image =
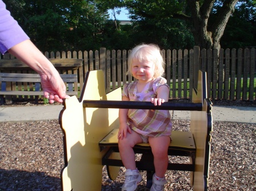
[(126, 138), (118, 140), (119, 153), (126, 169), (136, 169), (135, 154), (133, 151), (134, 145), (141, 143), (141, 135), (131, 130), (131, 133), (126, 134)]

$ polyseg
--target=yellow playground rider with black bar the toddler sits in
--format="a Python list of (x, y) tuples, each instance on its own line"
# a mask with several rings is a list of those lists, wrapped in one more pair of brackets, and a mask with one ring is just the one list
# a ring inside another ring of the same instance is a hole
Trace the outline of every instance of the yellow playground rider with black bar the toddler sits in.
[[(64, 133), (65, 167), (61, 172), (64, 191), (101, 190), (102, 168), (106, 165), (109, 178), (114, 180), (123, 166), (118, 152), (118, 108), (164, 109), (191, 111), (190, 131), (172, 131), (169, 155), (189, 158), (189, 163), (169, 163), (168, 170), (190, 171), (194, 190), (207, 190), (212, 131), (212, 103), (207, 99), (206, 73), (199, 71), (197, 89), (192, 103), (121, 101), (121, 88), (106, 94), (104, 73), (86, 73), (80, 100), (76, 96), (65, 100), (59, 123)], [(147, 171), (147, 187), (154, 173), (150, 146), (134, 147), (142, 154), (137, 168)]]

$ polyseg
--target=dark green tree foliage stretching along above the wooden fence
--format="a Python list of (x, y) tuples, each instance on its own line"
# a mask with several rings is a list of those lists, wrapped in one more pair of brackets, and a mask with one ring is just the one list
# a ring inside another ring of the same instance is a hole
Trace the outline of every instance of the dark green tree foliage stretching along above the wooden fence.
[[(225, 1), (214, 3), (208, 26), (213, 26)], [(199, 8), (204, 2), (199, 2)], [(189, 49), (196, 45), (192, 9), (186, 1), (9, 0), (5, 3), (42, 52), (101, 47), (122, 50), (140, 43), (155, 43), (163, 49)], [(255, 46), (255, 4), (254, 0), (238, 2), (221, 39), (222, 48)], [(120, 7), (126, 7), (131, 14), (131, 25), (120, 25), (117, 20), (115, 26), (114, 20), (109, 20), (108, 10)]]

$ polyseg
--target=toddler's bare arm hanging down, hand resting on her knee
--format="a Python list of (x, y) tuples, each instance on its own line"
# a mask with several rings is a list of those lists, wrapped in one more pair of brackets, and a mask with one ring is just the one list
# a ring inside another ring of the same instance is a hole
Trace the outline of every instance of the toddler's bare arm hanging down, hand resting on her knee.
[[(126, 96), (122, 97), (122, 101), (129, 101), (130, 99)], [(119, 131), (118, 139), (123, 139), (126, 137), (127, 131), (131, 133), (129, 125), (127, 125), (127, 113), (129, 109), (119, 109)]]

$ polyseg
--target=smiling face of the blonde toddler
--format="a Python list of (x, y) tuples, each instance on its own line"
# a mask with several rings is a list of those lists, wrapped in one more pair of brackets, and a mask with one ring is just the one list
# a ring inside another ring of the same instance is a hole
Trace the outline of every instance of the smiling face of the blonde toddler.
[(131, 64), (131, 74), (133, 77), (141, 82), (149, 82), (154, 78), (155, 65), (151, 61), (134, 60)]

